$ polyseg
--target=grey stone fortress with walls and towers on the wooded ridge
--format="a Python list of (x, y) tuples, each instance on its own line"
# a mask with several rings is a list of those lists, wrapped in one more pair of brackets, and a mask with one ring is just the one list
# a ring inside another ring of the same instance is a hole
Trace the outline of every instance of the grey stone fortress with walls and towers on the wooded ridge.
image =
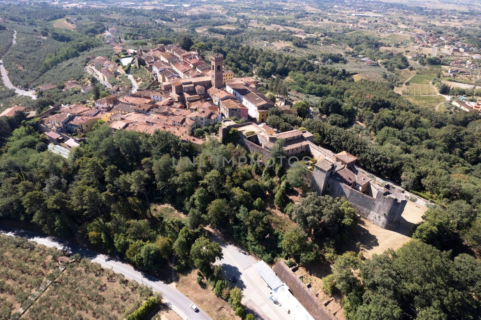
[[(334, 154), (312, 142), (313, 135), (307, 131), (291, 130), (275, 134), (266, 124), (242, 123), (222, 120), (219, 137), (230, 128), (239, 131), (239, 143), (249, 152), (270, 155), (270, 147), (278, 138), (285, 140), (284, 153), (290, 156), (310, 154), (317, 160), (311, 172), (311, 187), (320, 195), (344, 197), (363, 218), (394, 230), (399, 227), (401, 214), (407, 203), (404, 190), (391, 184), (380, 186), (355, 167), (357, 158), (342, 151)], [(286, 161), (287, 163), (287, 161)]]

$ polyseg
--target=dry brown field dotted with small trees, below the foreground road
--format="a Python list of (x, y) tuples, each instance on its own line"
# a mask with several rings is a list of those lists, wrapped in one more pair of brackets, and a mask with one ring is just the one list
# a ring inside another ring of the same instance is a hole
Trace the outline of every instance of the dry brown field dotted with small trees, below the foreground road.
[(64, 265), (61, 272), (53, 253), (63, 255), (23, 238), (0, 236), (0, 319), (28, 306), (32, 290), (59, 273), (22, 318), (123, 319), (152, 295), (152, 289), (88, 259)]

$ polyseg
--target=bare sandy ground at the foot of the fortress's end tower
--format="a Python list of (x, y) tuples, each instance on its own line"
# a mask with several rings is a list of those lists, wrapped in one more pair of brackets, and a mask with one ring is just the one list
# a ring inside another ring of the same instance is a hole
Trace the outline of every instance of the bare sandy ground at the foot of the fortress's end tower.
[(372, 254), (380, 254), (386, 249), (397, 249), (411, 239), (413, 227), (422, 221), (422, 215), (428, 208), (420, 206), (412, 201), (407, 201), (401, 215), (399, 228), (386, 230), (361, 218), (353, 234), (352, 242), (346, 244), (346, 251), (358, 251), (356, 243), (360, 242), (364, 257), (370, 258)]

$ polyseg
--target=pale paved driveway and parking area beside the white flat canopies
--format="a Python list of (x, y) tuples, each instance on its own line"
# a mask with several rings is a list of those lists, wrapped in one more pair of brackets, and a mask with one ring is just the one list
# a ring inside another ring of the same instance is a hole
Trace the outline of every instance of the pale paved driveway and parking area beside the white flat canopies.
[(212, 240), (222, 247), (224, 258), (215, 261), (215, 265), (222, 266), (225, 277), (229, 279), (235, 276), (239, 287), (244, 294), (244, 303), (250, 312), (255, 313), (256, 319), (264, 320), (293, 320), (292, 315), (279, 305), (274, 304), (269, 296), (275, 294), (261, 276), (255, 271), (253, 264), (257, 258), (245, 253), (241, 248), (225, 243), (218, 234), (212, 236)]

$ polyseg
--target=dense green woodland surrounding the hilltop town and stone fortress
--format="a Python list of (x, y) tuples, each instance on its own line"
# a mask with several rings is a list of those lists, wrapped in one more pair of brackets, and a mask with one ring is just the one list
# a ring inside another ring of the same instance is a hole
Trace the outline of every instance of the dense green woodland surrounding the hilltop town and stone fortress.
[[(306, 170), (300, 165), (288, 170), (278, 163), (257, 162), (216, 167), (212, 157), (247, 153), (235, 144), (236, 131), (229, 133), (226, 145), (209, 138), (199, 155), (167, 132), (112, 134), (108, 125), (97, 125), (87, 143), (63, 159), (46, 150), (48, 141), (38, 133), (37, 120), (26, 121), (17, 113), (0, 120), (1, 219), (119, 254), (145, 271), (158, 271), (175, 255), (177, 270), (199, 269), (199, 277), (205, 276), (215, 293), (230, 302), (228, 284), (211, 266), (222, 252), (203, 229), (210, 225), (268, 263), (278, 258), (304, 266), (331, 262), (333, 272), (324, 278), (324, 289), (344, 296), (348, 319), (479, 319), (481, 265), (473, 258), (481, 249), (481, 120), (476, 114), (420, 108), (395, 94), (392, 82), (354, 83), (342, 68), (341, 55), (319, 53), (335, 63), (319, 65), (309, 61), (318, 57), (298, 58), (242, 44), (252, 37), (266, 41), (291, 37), (279, 32), (189, 36), (139, 23), (187, 20), (178, 12), (152, 10), (142, 15), (120, 8), (104, 16), (97, 9), (68, 11), (82, 21), (76, 31), (60, 32), (47, 22), (66, 12), (49, 8), (41, 5), (25, 13), (8, 7), (2, 13), (19, 31), (18, 55), (9, 51), (4, 58), (15, 84), (61, 85), (85, 77), (79, 64), (83, 67), (89, 52), (100, 54), (104, 49), (95, 35), (105, 22), (118, 22), (129, 41), (142, 35), (152, 45), (171, 41), (186, 49), (194, 46), (201, 54), (222, 52), (226, 66), (237, 75), (252, 75), (255, 70), (265, 78), (261, 91), (266, 94), (282, 98), (295, 90), (307, 95), (294, 105), (298, 117), (272, 110), (269, 125), (280, 131), (304, 127), (314, 134), (315, 143), (354, 154), (360, 166), (431, 199), (433, 206), (414, 231), (416, 240), (400, 249), (370, 259), (352, 252), (337, 255), (358, 223), (350, 204), (309, 192), (299, 178)], [(137, 18), (120, 23), (128, 15)], [(204, 18), (192, 19), (190, 27), (207, 24)], [(403, 56), (380, 52), (380, 44), (368, 37), (326, 36), (348, 44), (355, 54), (383, 60), (387, 70), (407, 67)], [(28, 41), (35, 44), (34, 50), (27, 50)], [(26, 61), (23, 70), (16, 66), (16, 57)], [(273, 75), (276, 80), (270, 80)], [(59, 76), (62, 81), (51, 80)], [(43, 98), (30, 106), (89, 98), (77, 94), (53, 89), (40, 93)], [(0, 95), (8, 101), (13, 98), (8, 90)], [(213, 131), (215, 127), (195, 135)], [(281, 146), (279, 141), (273, 155)], [(194, 165), (180, 161), (195, 156)], [(298, 203), (288, 197), (294, 192), (303, 195)], [(157, 204), (172, 205), (187, 219), (158, 214)], [(272, 209), (286, 213), (295, 226), (279, 223)], [(237, 296), (231, 304), (236, 314), (247, 317), (238, 293), (232, 295)]]

